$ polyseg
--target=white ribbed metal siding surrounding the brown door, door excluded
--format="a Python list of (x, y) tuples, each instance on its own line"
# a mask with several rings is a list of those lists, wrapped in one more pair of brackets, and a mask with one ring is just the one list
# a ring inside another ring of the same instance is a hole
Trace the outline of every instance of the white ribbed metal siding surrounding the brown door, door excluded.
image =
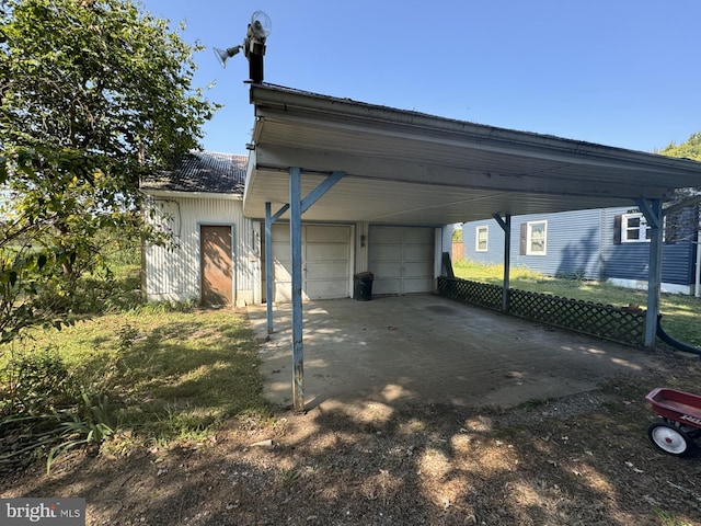
[(233, 225), (234, 301), (242, 306), (258, 296), (260, 226), (243, 217), (241, 199), (158, 197), (175, 235), (175, 247), (147, 247), (147, 299), (183, 301), (200, 298), (199, 226)]

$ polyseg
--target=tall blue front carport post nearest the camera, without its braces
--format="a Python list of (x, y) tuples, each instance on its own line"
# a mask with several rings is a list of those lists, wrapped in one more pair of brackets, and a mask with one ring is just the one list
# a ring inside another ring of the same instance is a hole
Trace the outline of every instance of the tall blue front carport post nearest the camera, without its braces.
[(292, 407), (304, 410), (302, 345), (302, 171), (289, 169), (289, 233), (292, 255)]

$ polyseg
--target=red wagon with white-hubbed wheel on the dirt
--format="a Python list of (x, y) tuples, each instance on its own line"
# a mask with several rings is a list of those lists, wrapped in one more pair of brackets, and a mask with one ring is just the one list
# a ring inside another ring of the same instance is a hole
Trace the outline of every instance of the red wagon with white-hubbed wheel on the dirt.
[(651, 442), (669, 455), (683, 456), (692, 451), (694, 438), (701, 436), (701, 397), (658, 387), (645, 399), (662, 416), (662, 421), (647, 430)]

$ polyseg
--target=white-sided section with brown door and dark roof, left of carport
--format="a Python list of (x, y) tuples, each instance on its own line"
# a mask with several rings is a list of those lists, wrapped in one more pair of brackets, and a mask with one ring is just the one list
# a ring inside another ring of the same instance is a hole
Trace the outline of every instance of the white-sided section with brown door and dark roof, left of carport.
[(243, 217), (246, 164), (248, 156), (196, 152), (141, 183), (154, 206), (148, 220), (173, 235), (169, 247), (145, 248), (147, 300), (261, 300), (260, 224)]

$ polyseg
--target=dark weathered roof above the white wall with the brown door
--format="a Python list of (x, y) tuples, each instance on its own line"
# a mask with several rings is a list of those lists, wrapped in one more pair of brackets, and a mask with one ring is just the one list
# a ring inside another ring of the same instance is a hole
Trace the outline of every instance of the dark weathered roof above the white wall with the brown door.
[(141, 190), (243, 194), (248, 162), (248, 156), (235, 153), (192, 152), (175, 170), (146, 178)]

